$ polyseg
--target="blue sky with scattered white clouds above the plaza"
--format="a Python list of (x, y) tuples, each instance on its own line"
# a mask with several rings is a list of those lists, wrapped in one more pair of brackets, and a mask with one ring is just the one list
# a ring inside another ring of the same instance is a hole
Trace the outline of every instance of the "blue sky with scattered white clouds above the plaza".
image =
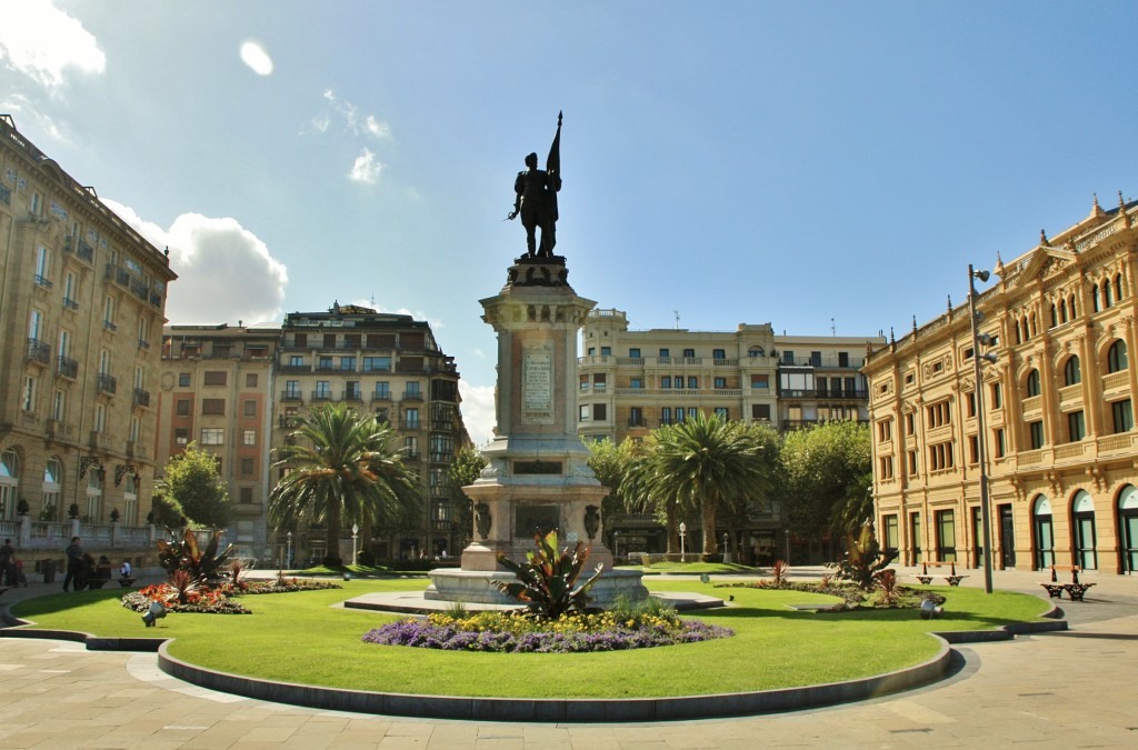
[[(1138, 195), (1133, 2), (3, 0), (0, 112), (171, 247), (172, 322), (410, 312), (492, 422), (525, 154), (634, 328), (908, 330)], [(248, 44), (251, 43), (251, 47)], [(242, 48), (246, 53), (242, 55)], [(249, 51), (251, 50), (251, 52)]]

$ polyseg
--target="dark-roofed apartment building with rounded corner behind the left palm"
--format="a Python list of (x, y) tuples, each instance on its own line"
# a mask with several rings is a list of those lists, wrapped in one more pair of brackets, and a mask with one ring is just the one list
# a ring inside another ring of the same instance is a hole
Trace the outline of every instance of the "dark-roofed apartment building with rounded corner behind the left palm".
[[(459, 370), (454, 357), (439, 348), (430, 324), (355, 305), (289, 313), (275, 371), (274, 446), (284, 443), (297, 415), (328, 402), (370, 410), (403, 436), (429, 500), (410, 528), (376, 530), (378, 554), (456, 555), (471, 530), (454, 522), (447, 470), (455, 452), (470, 440), (459, 409)], [(283, 550), (283, 530), (277, 542)], [(297, 560), (324, 555), (322, 531), (300, 529), (291, 544)]]

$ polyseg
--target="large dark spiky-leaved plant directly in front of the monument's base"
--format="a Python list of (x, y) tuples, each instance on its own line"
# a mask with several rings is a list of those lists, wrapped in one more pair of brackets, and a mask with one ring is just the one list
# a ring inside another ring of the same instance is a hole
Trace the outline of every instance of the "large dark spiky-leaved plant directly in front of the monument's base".
[(537, 550), (526, 553), (525, 562), (516, 562), (498, 553), (498, 563), (518, 577), (516, 582), (492, 580), (504, 594), (523, 602), (541, 619), (558, 619), (567, 612), (584, 612), (588, 607), (588, 590), (601, 575), (596, 566), (593, 576), (580, 586), (577, 578), (585, 568), (591, 546), (584, 542), (559, 554), (558, 533), (535, 536)]

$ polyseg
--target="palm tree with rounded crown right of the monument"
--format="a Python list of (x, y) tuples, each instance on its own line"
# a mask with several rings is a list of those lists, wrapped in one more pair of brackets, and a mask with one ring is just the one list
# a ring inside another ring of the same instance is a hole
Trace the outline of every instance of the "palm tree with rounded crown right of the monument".
[(762, 447), (742, 422), (698, 413), (658, 430), (645, 481), (657, 502), (699, 508), (703, 554), (719, 551), (716, 511), (770, 485)]

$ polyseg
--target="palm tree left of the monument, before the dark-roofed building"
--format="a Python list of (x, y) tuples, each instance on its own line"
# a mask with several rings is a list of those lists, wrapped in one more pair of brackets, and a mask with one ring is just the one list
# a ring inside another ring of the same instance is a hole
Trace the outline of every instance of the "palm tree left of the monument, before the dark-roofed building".
[(327, 564), (339, 566), (340, 527), (409, 518), (422, 501), (418, 475), (402, 460), (398, 434), (371, 414), (325, 404), (298, 420), (274, 465), (288, 473), (269, 496), (270, 519), (291, 528), (305, 519), (327, 528)]

